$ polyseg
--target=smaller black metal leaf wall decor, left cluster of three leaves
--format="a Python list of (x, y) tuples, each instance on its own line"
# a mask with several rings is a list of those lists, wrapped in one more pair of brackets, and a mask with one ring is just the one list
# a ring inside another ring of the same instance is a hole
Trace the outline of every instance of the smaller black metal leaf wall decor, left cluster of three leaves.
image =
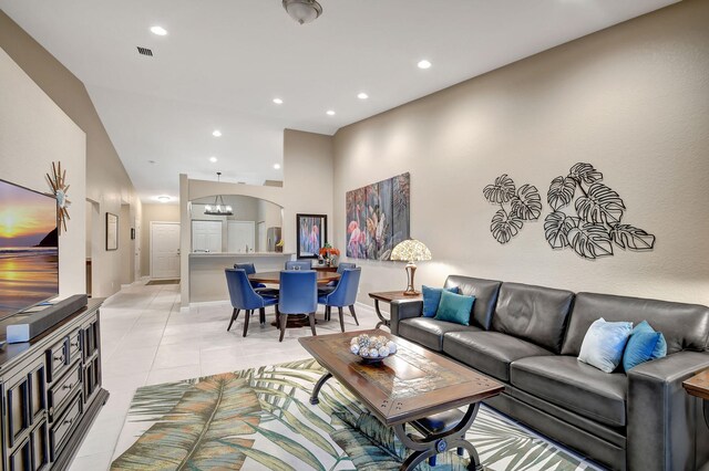
[(535, 221), (542, 213), (542, 198), (534, 185), (517, 188), (507, 174), (495, 178), (493, 185), (483, 188), (483, 196), (500, 209), (492, 218), (490, 231), (500, 243), (507, 243), (515, 237), (524, 221)]

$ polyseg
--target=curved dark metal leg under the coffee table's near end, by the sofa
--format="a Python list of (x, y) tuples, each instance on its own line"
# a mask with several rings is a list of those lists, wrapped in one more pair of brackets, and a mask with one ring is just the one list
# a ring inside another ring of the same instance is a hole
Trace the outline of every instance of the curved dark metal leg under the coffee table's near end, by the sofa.
[(470, 464), (467, 469), (470, 471), (482, 471), (484, 468), (480, 462), (480, 457), (473, 444), (465, 440), (465, 432), (473, 425), (475, 416), (477, 416), (477, 409), (480, 402), (471, 404), (467, 411), (461, 419), (461, 421), (451, 430), (440, 433), (432, 433), (424, 437), (412, 437), (404, 430), (404, 423), (394, 426), (394, 433), (401, 440), (404, 447), (413, 450), (413, 453), (407, 458), (401, 464), (400, 470), (409, 471), (415, 469), (415, 467), (423, 460), (433, 457), (434, 454), (442, 453), (445, 450), (452, 448), (464, 448), (470, 454)]

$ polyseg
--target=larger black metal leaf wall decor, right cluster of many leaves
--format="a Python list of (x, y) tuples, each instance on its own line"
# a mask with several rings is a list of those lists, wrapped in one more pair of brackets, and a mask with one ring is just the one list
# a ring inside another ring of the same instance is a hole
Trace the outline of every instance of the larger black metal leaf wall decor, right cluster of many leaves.
[[(655, 236), (621, 223), (625, 203), (602, 180), (603, 174), (584, 163), (574, 165), (566, 177), (552, 180), (547, 201), (553, 212), (544, 219), (544, 234), (552, 249), (571, 248), (590, 260), (613, 255), (614, 245), (624, 250), (653, 250)], [(562, 211), (572, 202), (576, 216)]]

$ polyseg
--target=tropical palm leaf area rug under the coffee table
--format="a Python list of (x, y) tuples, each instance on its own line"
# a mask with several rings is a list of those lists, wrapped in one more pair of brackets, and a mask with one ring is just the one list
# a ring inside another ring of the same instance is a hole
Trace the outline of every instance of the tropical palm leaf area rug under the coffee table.
[[(127, 449), (111, 469), (399, 469), (407, 451), (393, 431), (337, 380), (310, 405), (323, 373), (310, 359), (140, 388), (119, 440), (119, 452)], [(466, 438), (489, 470), (588, 468), (486, 407)], [(463, 470), (467, 462), (451, 451), (419, 469)]]

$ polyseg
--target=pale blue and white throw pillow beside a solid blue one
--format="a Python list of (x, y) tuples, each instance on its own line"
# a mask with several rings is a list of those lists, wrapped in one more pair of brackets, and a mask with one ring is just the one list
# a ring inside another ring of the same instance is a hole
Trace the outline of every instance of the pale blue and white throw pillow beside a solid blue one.
[(606, 322), (600, 317), (588, 327), (578, 359), (602, 371), (613, 373), (623, 359), (631, 331), (631, 322)]

